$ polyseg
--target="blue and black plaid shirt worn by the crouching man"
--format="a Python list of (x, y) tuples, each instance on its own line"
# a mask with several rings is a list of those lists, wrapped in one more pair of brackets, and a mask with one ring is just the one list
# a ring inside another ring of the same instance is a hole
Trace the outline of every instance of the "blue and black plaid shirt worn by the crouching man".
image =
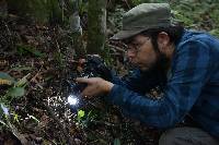
[(171, 128), (189, 114), (204, 130), (219, 137), (219, 40), (185, 31), (176, 45), (171, 76), (161, 99), (146, 94), (162, 78), (135, 70), (115, 84), (107, 99), (123, 111), (155, 128)]

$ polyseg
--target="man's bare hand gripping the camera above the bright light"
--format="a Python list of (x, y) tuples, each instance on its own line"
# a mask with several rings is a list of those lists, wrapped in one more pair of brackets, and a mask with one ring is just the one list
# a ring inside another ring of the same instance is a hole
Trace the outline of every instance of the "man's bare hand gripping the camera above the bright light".
[(88, 86), (81, 93), (82, 96), (87, 97), (106, 95), (111, 92), (112, 87), (114, 86), (113, 83), (107, 82), (101, 77), (78, 77), (76, 78), (76, 81), (79, 83), (88, 84)]

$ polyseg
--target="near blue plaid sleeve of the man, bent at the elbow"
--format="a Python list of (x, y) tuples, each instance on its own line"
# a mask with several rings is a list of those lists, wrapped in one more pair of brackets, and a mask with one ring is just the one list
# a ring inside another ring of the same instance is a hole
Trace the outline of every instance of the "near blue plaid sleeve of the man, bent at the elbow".
[(116, 84), (107, 99), (120, 106), (125, 114), (150, 126), (172, 126), (192, 109), (208, 78), (209, 51), (208, 46), (198, 40), (180, 44), (174, 53), (172, 76), (161, 99), (150, 99)]

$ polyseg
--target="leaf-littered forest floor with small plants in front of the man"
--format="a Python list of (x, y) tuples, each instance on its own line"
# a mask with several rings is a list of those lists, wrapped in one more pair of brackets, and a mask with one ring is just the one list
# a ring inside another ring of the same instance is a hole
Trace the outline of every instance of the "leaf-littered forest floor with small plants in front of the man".
[[(0, 72), (15, 81), (26, 78), (24, 96), (3, 100), (9, 114), (1, 117), (5, 125), (0, 144), (155, 144), (159, 131), (123, 117), (100, 97), (87, 100), (78, 111), (69, 109), (66, 80), (77, 65), (68, 31), (39, 26), (18, 15), (0, 20)], [(11, 87), (1, 84), (0, 95)]]

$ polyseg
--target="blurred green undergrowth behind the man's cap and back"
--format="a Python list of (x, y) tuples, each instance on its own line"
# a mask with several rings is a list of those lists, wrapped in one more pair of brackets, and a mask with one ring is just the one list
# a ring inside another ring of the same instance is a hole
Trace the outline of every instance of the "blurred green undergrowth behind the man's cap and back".
[(131, 0), (135, 5), (143, 2), (170, 2), (172, 13), (185, 27), (207, 31), (219, 36), (219, 3), (217, 0)]

